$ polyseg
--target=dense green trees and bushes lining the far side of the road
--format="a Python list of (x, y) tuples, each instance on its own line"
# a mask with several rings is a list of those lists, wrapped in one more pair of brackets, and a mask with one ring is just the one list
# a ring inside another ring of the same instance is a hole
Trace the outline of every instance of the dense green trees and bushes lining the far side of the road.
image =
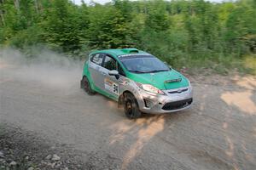
[(79, 59), (92, 49), (140, 48), (179, 69), (256, 75), (255, 8), (255, 0), (0, 0), (0, 44)]

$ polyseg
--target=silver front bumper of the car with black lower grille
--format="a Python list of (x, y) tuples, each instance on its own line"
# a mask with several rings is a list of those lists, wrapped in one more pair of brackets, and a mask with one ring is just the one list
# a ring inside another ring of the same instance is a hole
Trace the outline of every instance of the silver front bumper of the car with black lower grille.
[(188, 109), (193, 102), (192, 88), (164, 90), (166, 95), (152, 94), (139, 89), (137, 103), (140, 111), (151, 114), (171, 113)]

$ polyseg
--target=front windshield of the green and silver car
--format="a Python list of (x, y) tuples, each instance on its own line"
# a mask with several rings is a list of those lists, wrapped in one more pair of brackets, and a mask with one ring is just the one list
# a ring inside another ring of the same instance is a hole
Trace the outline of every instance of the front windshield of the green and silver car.
[(133, 55), (120, 59), (126, 69), (136, 73), (149, 73), (159, 71), (170, 71), (170, 68), (165, 65), (160, 59), (152, 55)]

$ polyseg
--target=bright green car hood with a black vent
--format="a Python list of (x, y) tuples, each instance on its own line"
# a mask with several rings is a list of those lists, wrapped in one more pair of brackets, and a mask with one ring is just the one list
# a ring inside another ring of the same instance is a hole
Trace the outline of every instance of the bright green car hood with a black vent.
[(131, 73), (129, 78), (135, 82), (151, 84), (161, 90), (189, 86), (188, 79), (173, 69), (171, 71), (160, 71), (155, 73)]

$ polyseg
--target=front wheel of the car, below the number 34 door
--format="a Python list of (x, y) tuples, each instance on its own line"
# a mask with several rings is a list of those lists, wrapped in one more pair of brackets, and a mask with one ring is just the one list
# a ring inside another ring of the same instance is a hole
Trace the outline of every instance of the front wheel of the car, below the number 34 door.
[(139, 111), (137, 105), (137, 99), (132, 94), (126, 93), (124, 94), (124, 109), (125, 116), (129, 119), (136, 119), (142, 115), (142, 112)]

